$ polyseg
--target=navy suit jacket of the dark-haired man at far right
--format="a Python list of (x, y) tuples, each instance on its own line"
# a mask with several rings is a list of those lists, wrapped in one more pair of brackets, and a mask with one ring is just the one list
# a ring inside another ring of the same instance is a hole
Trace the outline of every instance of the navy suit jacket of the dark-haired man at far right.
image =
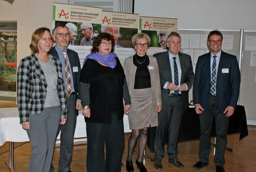
[[(198, 58), (196, 63), (196, 75), (193, 86), (194, 104), (200, 104), (207, 110), (210, 101), (211, 89), (211, 52)], [(222, 69), (228, 69), (228, 73), (223, 73)], [(224, 112), (227, 106), (237, 107), (237, 100), (240, 89), (240, 71), (237, 57), (226, 52), (221, 52), (217, 80), (216, 96), (220, 112)]]

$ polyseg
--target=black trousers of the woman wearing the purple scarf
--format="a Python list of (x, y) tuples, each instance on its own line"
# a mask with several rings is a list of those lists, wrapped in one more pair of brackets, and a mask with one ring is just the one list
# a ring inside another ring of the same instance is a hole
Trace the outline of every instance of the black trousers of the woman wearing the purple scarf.
[[(111, 123), (86, 123), (87, 172), (120, 172), (124, 153), (124, 120), (111, 113)], [(104, 157), (106, 144), (106, 161)]]

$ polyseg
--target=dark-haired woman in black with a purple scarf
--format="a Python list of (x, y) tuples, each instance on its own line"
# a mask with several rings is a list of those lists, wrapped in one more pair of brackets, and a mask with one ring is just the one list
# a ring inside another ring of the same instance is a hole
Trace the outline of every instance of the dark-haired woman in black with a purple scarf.
[(114, 47), (112, 35), (98, 34), (80, 74), (87, 131), (88, 172), (121, 171), (124, 153), (123, 116), (124, 109), (131, 107), (131, 101), (124, 70), (113, 52)]

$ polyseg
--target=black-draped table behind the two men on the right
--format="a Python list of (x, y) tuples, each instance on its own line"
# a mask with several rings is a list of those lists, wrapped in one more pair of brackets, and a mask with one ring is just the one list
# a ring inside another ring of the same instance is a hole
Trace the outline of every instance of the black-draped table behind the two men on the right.
[[(240, 139), (248, 135), (248, 128), (246, 122), (245, 107), (237, 105), (234, 114), (229, 117), (228, 134), (240, 133)], [(154, 134), (155, 128), (151, 127), (148, 132), (147, 146), (154, 152)], [(212, 123), (211, 136), (215, 137), (215, 119)], [(200, 121), (199, 116), (196, 114), (195, 108), (188, 108), (184, 112), (181, 120), (181, 127), (178, 137), (178, 142), (196, 140), (200, 138)]]

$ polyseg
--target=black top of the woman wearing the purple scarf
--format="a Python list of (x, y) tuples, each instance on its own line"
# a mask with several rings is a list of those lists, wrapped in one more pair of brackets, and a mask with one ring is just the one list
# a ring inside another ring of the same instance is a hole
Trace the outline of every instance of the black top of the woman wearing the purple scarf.
[[(83, 65), (79, 81), (90, 84), (90, 118), (85, 117), (86, 122), (110, 123), (111, 112), (116, 111), (119, 120), (124, 116), (123, 86), (126, 80), (123, 67), (118, 58), (116, 60), (117, 65), (113, 69), (102, 66), (92, 59), (88, 59)], [(82, 84), (81, 92), (83, 91)], [(129, 93), (127, 94), (128, 99), (130, 99)], [(82, 95), (83, 93), (81, 93), (83, 105), (86, 98)]]

